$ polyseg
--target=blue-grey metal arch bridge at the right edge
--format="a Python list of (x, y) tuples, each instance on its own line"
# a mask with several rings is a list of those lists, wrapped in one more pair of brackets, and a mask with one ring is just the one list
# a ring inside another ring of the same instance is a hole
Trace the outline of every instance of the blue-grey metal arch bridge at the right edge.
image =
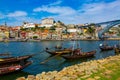
[(99, 39), (103, 39), (104, 36), (103, 34), (108, 31), (111, 27), (120, 24), (120, 20), (114, 20), (114, 21), (108, 21), (108, 22), (102, 22), (102, 23), (96, 23), (96, 25), (102, 25), (102, 24), (107, 24), (107, 26), (98, 32), (98, 37)]

